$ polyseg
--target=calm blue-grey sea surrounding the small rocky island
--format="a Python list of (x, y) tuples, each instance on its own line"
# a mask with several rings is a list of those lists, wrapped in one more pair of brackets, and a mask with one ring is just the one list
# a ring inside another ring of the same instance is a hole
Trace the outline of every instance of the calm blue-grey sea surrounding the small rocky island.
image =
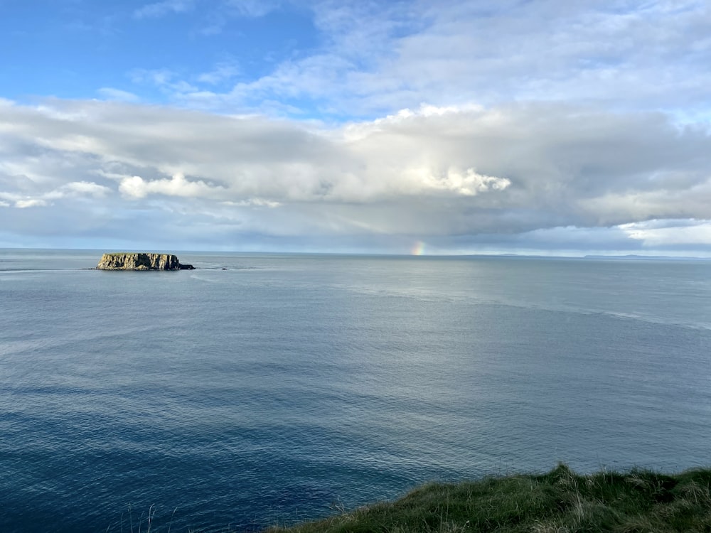
[(711, 466), (711, 262), (0, 249), (0, 532), (246, 532)]

